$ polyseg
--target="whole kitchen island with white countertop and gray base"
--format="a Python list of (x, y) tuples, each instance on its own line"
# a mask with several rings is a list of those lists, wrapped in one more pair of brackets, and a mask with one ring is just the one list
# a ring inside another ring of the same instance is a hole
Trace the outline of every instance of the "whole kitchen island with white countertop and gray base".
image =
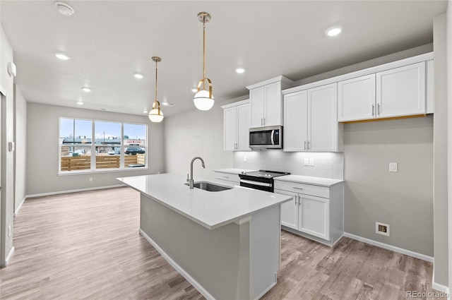
[(141, 235), (207, 299), (259, 299), (276, 284), (280, 204), (292, 197), (190, 189), (182, 174), (118, 180), (141, 193)]

